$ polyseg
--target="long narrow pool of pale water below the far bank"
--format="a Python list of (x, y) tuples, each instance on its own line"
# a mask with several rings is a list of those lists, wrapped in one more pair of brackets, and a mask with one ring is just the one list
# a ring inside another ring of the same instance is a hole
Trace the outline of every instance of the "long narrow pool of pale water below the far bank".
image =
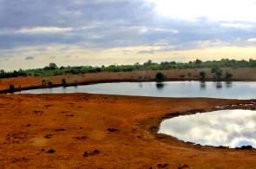
[(140, 95), (154, 97), (208, 97), (223, 99), (255, 99), (256, 82), (246, 81), (169, 81), (121, 82), (84, 85), (67, 88), (46, 88), (18, 92), (19, 94), (90, 93)]

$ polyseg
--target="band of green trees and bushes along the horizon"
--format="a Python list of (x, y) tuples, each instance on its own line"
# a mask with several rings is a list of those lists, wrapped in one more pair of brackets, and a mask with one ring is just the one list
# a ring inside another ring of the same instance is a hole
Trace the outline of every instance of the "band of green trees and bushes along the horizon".
[[(221, 59), (220, 61), (200, 61), (196, 59), (190, 62), (144, 62), (140, 64), (136, 62), (133, 65), (109, 65), (102, 67), (92, 66), (67, 66), (58, 67), (56, 63), (50, 62), (48, 66), (44, 68), (34, 69), (19, 69), (13, 72), (5, 72), (0, 70), (0, 78), (18, 77), (18, 76), (55, 76), (55, 75), (84, 75), (87, 73), (99, 73), (99, 72), (130, 72), (130, 71), (142, 71), (142, 70), (168, 70), (168, 69), (186, 69), (186, 68), (212, 68), (212, 73), (217, 76), (220, 75), (220, 68), (256, 68), (256, 60), (234, 60), (234, 59)], [(202, 75), (204, 76), (204, 75)]]

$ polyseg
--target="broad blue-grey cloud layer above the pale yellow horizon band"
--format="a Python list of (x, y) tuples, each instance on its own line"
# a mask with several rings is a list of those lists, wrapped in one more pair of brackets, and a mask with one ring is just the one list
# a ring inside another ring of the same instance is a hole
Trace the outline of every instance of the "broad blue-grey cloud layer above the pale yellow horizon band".
[[(52, 43), (82, 49), (162, 47), (139, 51), (140, 54), (201, 49), (202, 44), (244, 47), (252, 45), (247, 40), (256, 35), (254, 25), (240, 21), (212, 22), (207, 17), (194, 22), (171, 19), (158, 16), (154, 4), (142, 0), (0, 1), (0, 49), (3, 50)], [(35, 28), (56, 28), (56, 31), (33, 32)], [(160, 41), (165, 44), (157, 44)]]

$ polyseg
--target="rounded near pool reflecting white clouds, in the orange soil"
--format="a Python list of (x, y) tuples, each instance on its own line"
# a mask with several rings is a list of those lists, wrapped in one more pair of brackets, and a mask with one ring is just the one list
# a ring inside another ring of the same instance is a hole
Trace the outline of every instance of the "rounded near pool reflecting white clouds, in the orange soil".
[(256, 147), (256, 111), (220, 110), (164, 120), (159, 133), (203, 146)]

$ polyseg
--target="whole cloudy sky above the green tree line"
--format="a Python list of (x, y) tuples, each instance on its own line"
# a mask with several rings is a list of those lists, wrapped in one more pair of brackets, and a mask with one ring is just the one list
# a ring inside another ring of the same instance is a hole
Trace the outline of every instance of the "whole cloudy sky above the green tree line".
[(0, 0), (0, 69), (256, 59), (256, 0)]

